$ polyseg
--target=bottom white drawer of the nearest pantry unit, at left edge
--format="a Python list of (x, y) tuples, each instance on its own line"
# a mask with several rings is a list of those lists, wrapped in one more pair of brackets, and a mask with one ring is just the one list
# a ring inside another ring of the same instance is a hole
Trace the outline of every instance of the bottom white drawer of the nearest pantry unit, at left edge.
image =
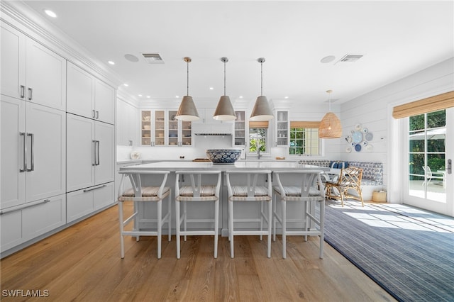
[(66, 195), (52, 196), (21, 208), (2, 210), (1, 252), (66, 223)]

